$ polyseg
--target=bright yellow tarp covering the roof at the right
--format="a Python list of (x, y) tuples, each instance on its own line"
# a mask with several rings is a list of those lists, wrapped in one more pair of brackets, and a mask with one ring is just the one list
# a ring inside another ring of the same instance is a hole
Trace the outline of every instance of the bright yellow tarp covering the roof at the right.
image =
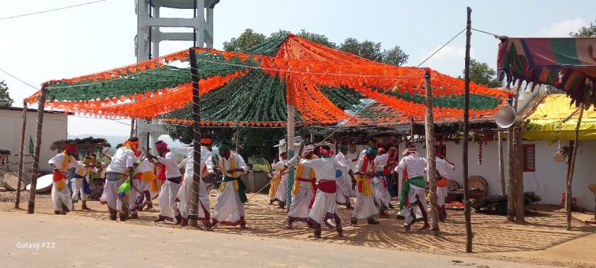
[[(570, 101), (571, 98), (565, 94), (545, 96), (536, 108), (525, 116), (525, 120), (530, 120), (530, 124), (523, 133), (523, 137), (550, 141), (575, 139), (575, 126), (578, 124), (579, 113), (577, 108), (569, 107)], [(563, 121), (566, 118), (569, 119)], [(596, 111), (584, 111), (579, 139), (596, 139)]]

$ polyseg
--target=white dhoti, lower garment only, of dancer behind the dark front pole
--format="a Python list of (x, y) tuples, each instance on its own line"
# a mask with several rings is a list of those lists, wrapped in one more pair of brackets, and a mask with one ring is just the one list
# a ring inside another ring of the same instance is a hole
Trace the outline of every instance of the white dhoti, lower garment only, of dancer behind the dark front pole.
[[(183, 219), (188, 220), (188, 216), (190, 216), (190, 208), (193, 204), (192, 198), (193, 196), (193, 180), (184, 180), (182, 182), (182, 186), (178, 190), (178, 194), (176, 196), (176, 201), (178, 202), (178, 206), (176, 211), (180, 213)], [(207, 194), (207, 186), (203, 180), (199, 181), (199, 207), (197, 209), (197, 220), (204, 221), (209, 220), (210, 213), (209, 213), (209, 196)]]

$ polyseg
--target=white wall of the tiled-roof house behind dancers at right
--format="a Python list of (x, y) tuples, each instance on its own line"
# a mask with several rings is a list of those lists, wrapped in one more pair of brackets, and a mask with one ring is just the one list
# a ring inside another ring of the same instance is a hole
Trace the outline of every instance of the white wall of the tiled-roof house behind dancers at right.
[[(562, 142), (561, 146), (569, 144)], [(549, 145), (547, 141), (524, 141), (523, 144), (535, 144), (536, 147), (536, 172), (523, 173), (524, 191), (534, 191), (542, 198), (543, 204), (560, 204), (561, 193), (566, 189), (567, 181), (567, 163), (556, 162), (553, 155), (558, 150), (558, 144)], [(418, 151), (425, 155), (424, 144), (417, 143)], [(449, 179), (456, 180), (463, 187), (462, 171), (462, 143), (447, 142), (447, 159), (456, 165), (456, 170), (449, 171)], [(357, 152), (362, 151), (367, 146), (358, 145)], [(482, 145), (482, 165), (478, 163), (477, 142), (469, 142), (468, 149), (468, 174), (469, 176), (482, 176), (488, 183), (488, 195), (501, 194), (501, 183), (499, 182), (499, 158), (497, 152), (497, 142), (490, 141), (487, 145)], [(403, 144), (400, 144), (401, 154)], [(355, 158), (356, 153), (348, 154), (349, 158)], [(505, 179), (507, 181), (507, 142), (503, 141), (503, 157), (505, 165)], [(596, 141), (580, 141), (580, 148), (575, 161), (575, 174), (573, 176), (573, 188), (571, 189), (574, 197), (578, 198), (578, 206), (593, 211), (595, 207), (595, 196), (588, 189), (588, 184), (596, 183), (596, 174), (591, 169), (595, 165), (593, 159), (596, 159)], [(355, 167), (356, 163), (352, 163)]]

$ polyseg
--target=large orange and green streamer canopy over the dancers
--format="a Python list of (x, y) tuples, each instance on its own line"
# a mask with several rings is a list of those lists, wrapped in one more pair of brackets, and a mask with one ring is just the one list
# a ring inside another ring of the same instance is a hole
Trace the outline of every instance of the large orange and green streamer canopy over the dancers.
[[(423, 116), (423, 68), (389, 66), (294, 36), (273, 38), (244, 53), (194, 49), (201, 119), (208, 126), (282, 126), (286, 105), (298, 124), (336, 124), (345, 109), (377, 99), (406, 117)], [(188, 124), (192, 85), (189, 51), (104, 72), (47, 82), (47, 107), (107, 118), (161, 118)], [(177, 62), (177, 63), (176, 63)], [(435, 118), (460, 119), (464, 82), (430, 70)], [(29, 97), (37, 101), (38, 93)], [(494, 114), (509, 92), (471, 84), (472, 113)]]

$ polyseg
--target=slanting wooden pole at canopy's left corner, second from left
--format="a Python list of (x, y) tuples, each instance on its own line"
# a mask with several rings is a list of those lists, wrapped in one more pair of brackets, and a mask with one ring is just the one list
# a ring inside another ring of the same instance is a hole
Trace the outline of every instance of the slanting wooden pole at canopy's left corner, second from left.
[(37, 178), (39, 176), (39, 153), (41, 151), (41, 131), (43, 129), (43, 109), (45, 106), (45, 97), (47, 94), (47, 84), (43, 84), (41, 94), (38, 99), (37, 106), (37, 126), (35, 129), (35, 150), (33, 152), (33, 167), (31, 174), (31, 189), (29, 191), (29, 204), (27, 205), (27, 213), (33, 214), (35, 212), (35, 189), (37, 189)]

